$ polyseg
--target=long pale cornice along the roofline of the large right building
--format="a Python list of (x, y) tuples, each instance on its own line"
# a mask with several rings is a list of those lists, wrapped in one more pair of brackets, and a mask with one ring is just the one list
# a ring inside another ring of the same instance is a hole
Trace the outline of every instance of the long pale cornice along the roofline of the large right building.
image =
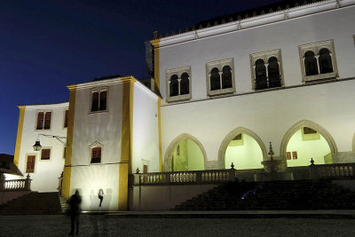
[(312, 15), (319, 12), (327, 12), (336, 10), (340, 7), (349, 7), (355, 5), (355, 0), (326, 0), (316, 2), (313, 4), (305, 4), (288, 8), (278, 12), (265, 13), (243, 20), (235, 20), (221, 25), (196, 29), (186, 33), (181, 33), (175, 36), (162, 37), (160, 39), (152, 40), (151, 43), (159, 43), (159, 47), (169, 46), (176, 43), (185, 43), (188, 41), (199, 40), (210, 36), (218, 36), (243, 30), (247, 28), (254, 28), (257, 26), (280, 22), (282, 20), (291, 20), (299, 17)]

